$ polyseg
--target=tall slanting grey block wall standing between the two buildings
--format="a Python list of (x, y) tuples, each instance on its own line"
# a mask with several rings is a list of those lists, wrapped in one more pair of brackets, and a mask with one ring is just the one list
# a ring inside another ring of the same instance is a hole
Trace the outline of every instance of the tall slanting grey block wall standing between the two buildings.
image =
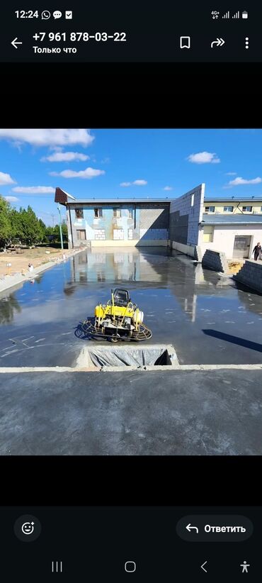
[(169, 239), (183, 245), (198, 245), (202, 221), (205, 184), (186, 192), (170, 204)]

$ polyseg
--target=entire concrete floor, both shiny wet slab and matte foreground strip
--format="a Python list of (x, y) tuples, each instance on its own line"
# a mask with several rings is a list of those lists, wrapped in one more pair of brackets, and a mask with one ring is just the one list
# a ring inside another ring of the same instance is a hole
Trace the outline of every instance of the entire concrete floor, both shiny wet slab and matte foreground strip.
[[(74, 367), (90, 345), (79, 321), (111, 287), (130, 289), (153, 331), (148, 344), (173, 344), (181, 365), (262, 362), (261, 295), (185, 255), (144, 248), (84, 251), (2, 292), (0, 367)], [(0, 454), (262, 455), (261, 378), (236, 369), (0, 374)]]

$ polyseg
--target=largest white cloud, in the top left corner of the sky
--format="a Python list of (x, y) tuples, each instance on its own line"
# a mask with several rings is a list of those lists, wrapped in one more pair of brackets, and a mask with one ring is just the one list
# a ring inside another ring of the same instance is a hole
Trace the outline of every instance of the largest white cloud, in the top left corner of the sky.
[(25, 129), (2, 130), (0, 139), (11, 140), (15, 145), (28, 143), (33, 146), (64, 146), (69, 144), (91, 145), (95, 139), (90, 130), (77, 129)]

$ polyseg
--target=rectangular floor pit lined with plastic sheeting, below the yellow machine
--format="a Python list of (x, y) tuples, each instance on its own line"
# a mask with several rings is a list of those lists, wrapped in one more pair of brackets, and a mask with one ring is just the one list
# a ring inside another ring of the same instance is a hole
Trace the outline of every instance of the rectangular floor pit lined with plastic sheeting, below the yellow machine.
[(176, 351), (173, 345), (152, 345), (147, 347), (125, 348), (117, 346), (89, 346), (85, 347), (77, 366), (88, 367), (135, 367), (171, 366), (178, 364)]

